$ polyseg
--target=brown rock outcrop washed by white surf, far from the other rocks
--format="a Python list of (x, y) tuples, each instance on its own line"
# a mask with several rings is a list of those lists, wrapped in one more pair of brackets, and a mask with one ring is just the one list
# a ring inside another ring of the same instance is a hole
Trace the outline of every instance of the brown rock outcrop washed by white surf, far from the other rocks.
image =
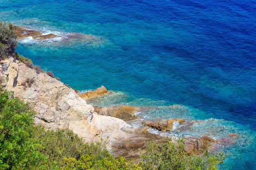
[(25, 28), (19, 27), (19, 26), (16, 26), (16, 33), (17, 33), (18, 39), (33, 37), (33, 39), (36, 39), (36, 40), (46, 40), (46, 39), (58, 37), (55, 34), (43, 35), (40, 31), (25, 29)]

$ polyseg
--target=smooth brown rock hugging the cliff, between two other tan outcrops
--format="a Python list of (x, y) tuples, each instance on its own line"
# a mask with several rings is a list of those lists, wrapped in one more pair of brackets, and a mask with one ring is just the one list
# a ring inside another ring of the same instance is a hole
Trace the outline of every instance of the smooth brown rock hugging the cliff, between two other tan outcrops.
[(112, 116), (124, 121), (130, 121), (137, 119), (135, 112), (137, 112), (137, 107), (121, 105), (118, 107), (98, 107), (94, 106), (94, 112), (104, 116)]

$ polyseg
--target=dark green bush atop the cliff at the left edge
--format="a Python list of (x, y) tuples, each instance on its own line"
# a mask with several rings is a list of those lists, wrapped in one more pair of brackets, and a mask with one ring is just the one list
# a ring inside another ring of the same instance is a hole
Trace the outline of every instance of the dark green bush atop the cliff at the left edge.
[(16, 27), (0, 21), (0, 60), (11, 56), (17, 47)]

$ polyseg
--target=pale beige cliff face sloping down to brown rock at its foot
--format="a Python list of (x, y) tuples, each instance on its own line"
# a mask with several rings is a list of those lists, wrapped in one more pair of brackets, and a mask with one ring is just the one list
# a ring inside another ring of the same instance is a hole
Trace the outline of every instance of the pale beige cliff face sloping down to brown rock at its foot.
[[(36, 124), (47, 129), (70, 129), (85, 142), (103, 139), (114, 155), (139, 157), (148, 139), (164, 141), (164, 137), (150, 134), (143, 128), (94, 112), (73, 89), (44, 72), (37, 72), (14, 58), (0, 62), (2, 85), (15, 97), (29, 103), (36, 111)], [(130, 152), (136, 150), (136, 152)]]

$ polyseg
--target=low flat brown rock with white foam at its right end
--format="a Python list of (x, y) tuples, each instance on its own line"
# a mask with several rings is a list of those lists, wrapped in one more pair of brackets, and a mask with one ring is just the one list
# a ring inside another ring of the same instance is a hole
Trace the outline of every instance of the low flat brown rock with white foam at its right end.
[(160, 121), (144, 121), (142, 124), (159, 131), (173, 131), (173, 125), (181, 124), (184, 122), (184, 119), (163, 119)]

